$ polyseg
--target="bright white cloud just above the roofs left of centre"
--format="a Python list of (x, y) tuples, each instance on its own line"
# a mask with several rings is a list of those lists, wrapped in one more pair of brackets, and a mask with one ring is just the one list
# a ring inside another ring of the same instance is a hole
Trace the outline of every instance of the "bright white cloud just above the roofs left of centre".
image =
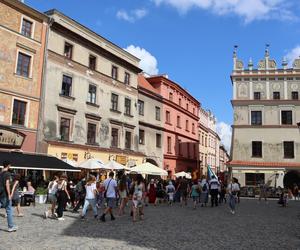
[(127, 52), (141, 59), (140, 68), (149, 75), (157, 75), (157, 60), (144, 48), (140, 48), (139, 46), (130, 45), (125, 49)]

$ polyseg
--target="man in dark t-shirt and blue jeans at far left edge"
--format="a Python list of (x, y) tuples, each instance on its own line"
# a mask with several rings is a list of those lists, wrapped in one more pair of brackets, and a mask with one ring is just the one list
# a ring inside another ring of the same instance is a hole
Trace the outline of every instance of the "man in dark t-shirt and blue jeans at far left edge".
[(13, 220), (13, 208), (12, 208), (12, 196), (11, 192), (11, 174), (9, 172), (10, 162), (3, 162), (3, 170), (0, 173), (0, 208), (3, 207), (6, 210), (8, 232), (15, 232), (18, 227), (14, 224)]

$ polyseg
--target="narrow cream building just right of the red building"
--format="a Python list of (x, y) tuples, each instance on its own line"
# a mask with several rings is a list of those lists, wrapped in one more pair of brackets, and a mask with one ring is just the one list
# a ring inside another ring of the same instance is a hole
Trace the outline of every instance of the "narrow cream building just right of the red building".
[(199, 110), (199, 154), (202, 173), (207, 173), (207, 166), (217, 174), (220, 169), (220, 137), (216, 130), (216, 117), (209, 110)]

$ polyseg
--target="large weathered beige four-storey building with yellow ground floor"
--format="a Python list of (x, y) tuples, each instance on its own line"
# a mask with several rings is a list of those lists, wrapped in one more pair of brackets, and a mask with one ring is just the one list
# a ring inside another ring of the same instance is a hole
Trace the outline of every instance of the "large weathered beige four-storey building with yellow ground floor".
[(51, 26), (41, 148), (78, 162), (142, 163), (139, 59), (56, 10), (46, 14)]

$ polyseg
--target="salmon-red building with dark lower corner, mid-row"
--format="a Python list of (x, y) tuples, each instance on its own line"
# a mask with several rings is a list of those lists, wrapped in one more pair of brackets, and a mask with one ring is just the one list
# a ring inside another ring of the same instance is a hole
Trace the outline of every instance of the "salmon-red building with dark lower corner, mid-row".
[(198, 121), (200, 103), (179, 84), (167, 76), (153, 76), (147, 81), (163, 97), (164, 125), (163, 166), (174, 175), (176, 172), (199, 172)]

